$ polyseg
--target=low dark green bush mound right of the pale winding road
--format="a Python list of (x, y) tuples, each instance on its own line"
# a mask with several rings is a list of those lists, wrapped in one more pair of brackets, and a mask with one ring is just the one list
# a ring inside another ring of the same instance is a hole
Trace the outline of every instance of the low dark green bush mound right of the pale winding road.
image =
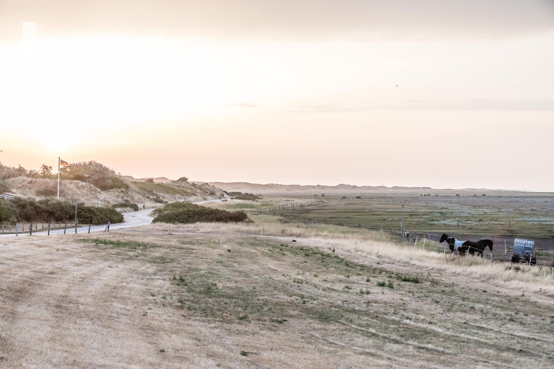
[(172, 202), (152, 212), (153, 223), (195, 223), (195, 222), (243, 222), (248, 220), (244, 211), (227, 211), (191, 204)]

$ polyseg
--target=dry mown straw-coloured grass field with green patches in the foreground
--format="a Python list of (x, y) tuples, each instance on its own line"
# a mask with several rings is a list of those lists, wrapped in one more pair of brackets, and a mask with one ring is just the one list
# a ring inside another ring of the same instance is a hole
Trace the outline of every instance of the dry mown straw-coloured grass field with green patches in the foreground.
[(0, 367), (554, 365), (552, 271), (386, 237), (259, 216), (3, 238)]

